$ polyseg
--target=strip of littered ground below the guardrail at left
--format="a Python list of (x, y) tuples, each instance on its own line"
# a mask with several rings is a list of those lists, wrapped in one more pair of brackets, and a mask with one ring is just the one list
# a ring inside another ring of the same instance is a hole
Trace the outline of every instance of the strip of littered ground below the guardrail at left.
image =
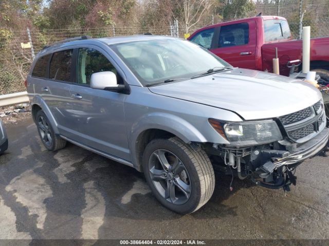
[(0, 119), (5, 126), (17, 124), (30, 117), (30, 104), (18, 104), (0, 108)]

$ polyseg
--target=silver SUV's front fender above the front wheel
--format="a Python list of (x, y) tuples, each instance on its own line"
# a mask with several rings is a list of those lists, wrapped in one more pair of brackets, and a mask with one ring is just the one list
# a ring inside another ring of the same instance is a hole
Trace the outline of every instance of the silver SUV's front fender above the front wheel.
[(210, 126), (208, 118), (242, 121), (237, 114), (228, 110), (157, 95), (148, 88), (135, 86), (131, 86), (131, 94), (124, 102), (124, 113), (132, 162), (138, 170), (136, 143), (145, 130), (165, 130), (185, 142), (228, 144)]

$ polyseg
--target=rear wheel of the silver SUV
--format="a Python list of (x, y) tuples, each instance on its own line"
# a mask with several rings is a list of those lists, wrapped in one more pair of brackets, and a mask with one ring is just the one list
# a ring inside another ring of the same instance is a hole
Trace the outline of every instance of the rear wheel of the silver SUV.
[(50, 151), (63, 149), (66, 141), (54, 134), (49, 120), (43, 110), (39, 110), (35, 116), (36, 126), (43, 145)]

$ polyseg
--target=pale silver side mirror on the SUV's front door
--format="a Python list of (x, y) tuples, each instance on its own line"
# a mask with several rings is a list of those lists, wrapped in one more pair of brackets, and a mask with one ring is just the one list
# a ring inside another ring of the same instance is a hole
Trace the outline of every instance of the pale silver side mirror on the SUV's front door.
[(117, 76), (113, 72), (93, 73), (90, 78), (90, 88), (98, 90), (121, 91), (124, 85), (118, 85)]

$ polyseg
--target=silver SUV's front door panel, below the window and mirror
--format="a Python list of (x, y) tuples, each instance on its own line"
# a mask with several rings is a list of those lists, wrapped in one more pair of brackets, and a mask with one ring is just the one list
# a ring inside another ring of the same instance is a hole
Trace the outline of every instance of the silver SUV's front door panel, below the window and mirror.
[(72, 85), (70, 93), (82, 97), (70, 105), (69, 120), (77, 127), (72, 139), (130, 161), (123, 110), (127, 95), (80, 85)]

